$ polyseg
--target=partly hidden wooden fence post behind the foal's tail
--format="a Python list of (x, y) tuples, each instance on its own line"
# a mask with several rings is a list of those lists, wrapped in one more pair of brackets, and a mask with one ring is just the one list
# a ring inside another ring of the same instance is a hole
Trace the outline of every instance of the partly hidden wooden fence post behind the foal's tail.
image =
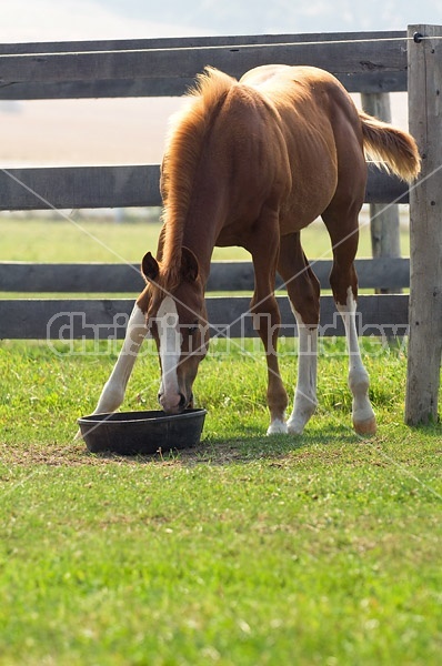
[[(390, 95), (388, 92), (361, 93), (362, 108), (379, 120), (391, 122)], [(401, 238), (398, 205), (370, 204), (371, 249), (373, 258), (401, 256)], [(389, 294), (395, 290), (376, 289), (375, 293)], [(396, 291), (398, 293), (398, 291)]]

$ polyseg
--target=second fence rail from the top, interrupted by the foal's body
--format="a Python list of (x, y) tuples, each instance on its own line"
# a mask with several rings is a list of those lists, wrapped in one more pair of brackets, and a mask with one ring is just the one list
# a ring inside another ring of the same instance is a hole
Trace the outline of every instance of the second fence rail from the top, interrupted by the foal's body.
[[(0, 210), (159, 206), (160, 167), (0, 169)], [(366, 203), (405, 203), (408, 185), (369, 165)]]

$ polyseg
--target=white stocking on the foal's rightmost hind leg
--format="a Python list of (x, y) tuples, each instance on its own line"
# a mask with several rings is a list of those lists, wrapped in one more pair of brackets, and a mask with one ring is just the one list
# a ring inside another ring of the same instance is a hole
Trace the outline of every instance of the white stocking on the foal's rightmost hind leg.
[(351, 286), (348, 290), (346, 304), (336, 303), (345, 327), (346, 346), (349, 352), (349, 389), (353, 395), (353, 425), (360, 434), (375, 432), (374, 412), (369, 398), (369, 373), (362, 363), (356, 330), (356, 301)]

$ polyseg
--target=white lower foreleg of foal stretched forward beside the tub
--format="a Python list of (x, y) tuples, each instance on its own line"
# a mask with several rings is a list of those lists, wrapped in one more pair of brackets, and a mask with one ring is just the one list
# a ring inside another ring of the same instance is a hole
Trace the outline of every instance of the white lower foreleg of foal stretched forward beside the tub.
[(147, 332), (145, 315), (135, 303), (129, 319), (123, 345), (111, 375), (101, 392), (94, 414), (114, 412), (123, 402), (125, 386)]

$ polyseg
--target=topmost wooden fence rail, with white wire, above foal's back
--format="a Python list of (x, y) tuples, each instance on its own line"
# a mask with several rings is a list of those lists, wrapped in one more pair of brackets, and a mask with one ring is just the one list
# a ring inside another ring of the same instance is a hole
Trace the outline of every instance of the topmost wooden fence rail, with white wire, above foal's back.
[(406, 32), (1, 44), (0, 99), (179, 95), (209, 63), (238, 78), (259, 64), (310, 64), (351, 92), (404, 91)]

